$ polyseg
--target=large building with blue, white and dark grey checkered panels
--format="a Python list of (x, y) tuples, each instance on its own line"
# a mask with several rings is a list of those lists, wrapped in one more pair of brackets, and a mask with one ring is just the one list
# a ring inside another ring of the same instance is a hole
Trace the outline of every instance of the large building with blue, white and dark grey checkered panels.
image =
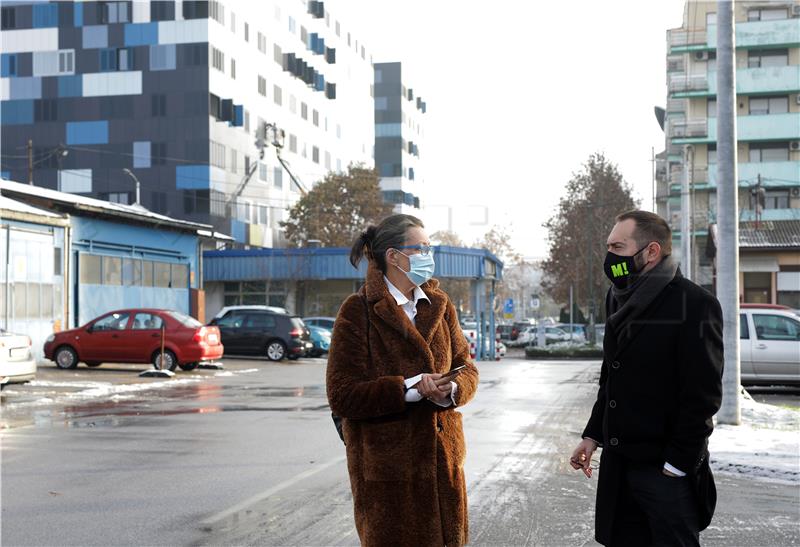
[(270, 247), (327, 172), (374, 165), (371, 54), (320, 1), (4, 1), (1, 49), (3, 178)]

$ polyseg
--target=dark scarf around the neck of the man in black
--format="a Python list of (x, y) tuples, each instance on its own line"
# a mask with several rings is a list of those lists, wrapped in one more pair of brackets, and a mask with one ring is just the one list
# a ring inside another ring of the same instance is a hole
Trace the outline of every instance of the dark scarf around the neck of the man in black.
[(612, 285), (606, 299), (606, 324), (616, 335), (618, 344), (621, 345), (630, 335), (631, 323), (647, 311), (673, 279), (680, 276), (678, 263), (667, 256), (649, 272), (637, 275), (624, 289)]

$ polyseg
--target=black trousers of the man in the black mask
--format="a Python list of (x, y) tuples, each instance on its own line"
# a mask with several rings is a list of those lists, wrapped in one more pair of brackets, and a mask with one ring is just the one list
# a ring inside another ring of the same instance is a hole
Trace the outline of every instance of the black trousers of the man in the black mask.
[(668, 477), (663, 466), (625, 462), (614, 511), (611, 546), (700, 545), (697, 502), (689, 477)]

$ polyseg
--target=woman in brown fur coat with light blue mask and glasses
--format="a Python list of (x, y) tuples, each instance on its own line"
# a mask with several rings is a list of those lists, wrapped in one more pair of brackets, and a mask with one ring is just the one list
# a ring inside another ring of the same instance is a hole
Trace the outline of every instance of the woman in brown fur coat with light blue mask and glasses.
[(466, 449), (456, 408), (474, 396), (478, 370), (453, 303), (431, 279), (422, 222), (392, 215), (370, 226), (353, 246), (353, 266), (364, 255), (366, 285), (339, 310), (327, 370), (359, 538), (366, 546), (464, 545)]

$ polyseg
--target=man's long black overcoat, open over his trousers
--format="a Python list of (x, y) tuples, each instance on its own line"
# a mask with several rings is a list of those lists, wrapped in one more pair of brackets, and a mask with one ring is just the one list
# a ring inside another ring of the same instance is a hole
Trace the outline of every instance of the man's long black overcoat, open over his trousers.
[(595, 537), (604, 544), (611, 540), (627, 460), (669, 462), (686, 472), (701, 530), (716, 505), (708, 437), (722, 402), (719, 302), (678, 274), (625, 328), (628, 336), (620, 343), (606, 327), (597, 401), (583, 432), (603, 447)]

